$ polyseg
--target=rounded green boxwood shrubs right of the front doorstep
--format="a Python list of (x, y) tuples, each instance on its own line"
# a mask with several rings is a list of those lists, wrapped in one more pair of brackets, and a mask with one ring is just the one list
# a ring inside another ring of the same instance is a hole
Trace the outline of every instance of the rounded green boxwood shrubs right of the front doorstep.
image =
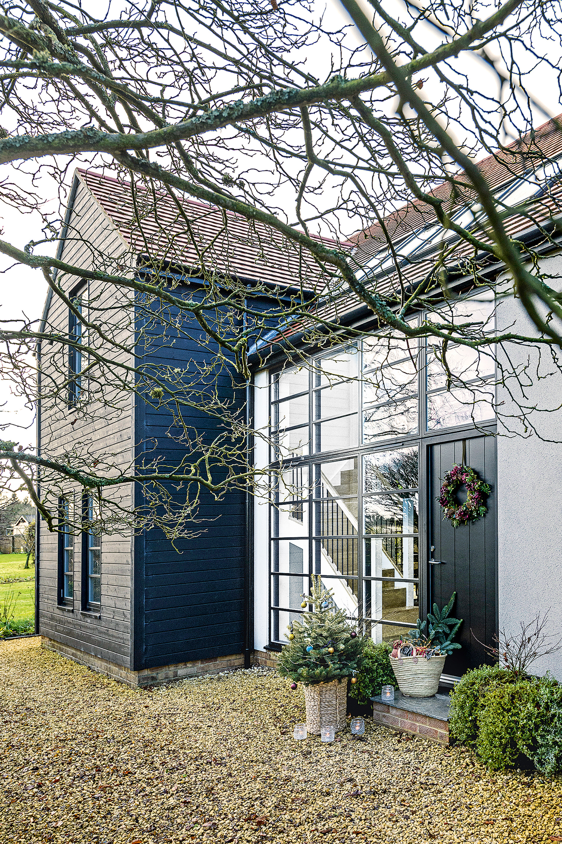
[(529, 760), (544, 774), (562, 771), (562, 686), (548, 674), (469, 671), (451, 693), (449, 728), (494, 771)]

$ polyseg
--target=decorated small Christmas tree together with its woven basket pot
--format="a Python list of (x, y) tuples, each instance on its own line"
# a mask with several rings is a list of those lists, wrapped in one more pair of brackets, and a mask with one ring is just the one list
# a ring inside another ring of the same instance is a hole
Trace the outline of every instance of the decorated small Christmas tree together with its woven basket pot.
[(306, 729), (320, 734), (321, 727), (345, 727), (348, 678), (355, 681), (363, 656), (363, 638), (349, 626), (341, 609), (334, 609), (332, 590), (312, 576), (311, 595), (303, 595), (300, 621), (289, 625), (289, 644), (278, 660), (282, 677), (304, 684)]

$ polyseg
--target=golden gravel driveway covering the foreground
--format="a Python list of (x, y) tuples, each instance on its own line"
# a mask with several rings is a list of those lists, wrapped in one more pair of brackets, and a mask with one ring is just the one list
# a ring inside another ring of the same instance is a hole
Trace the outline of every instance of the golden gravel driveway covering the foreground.
[(368, 722), (297, 743), (267, 669), (132, 690), (0, 643), (0, 842), (562, 841), (562, 782)]

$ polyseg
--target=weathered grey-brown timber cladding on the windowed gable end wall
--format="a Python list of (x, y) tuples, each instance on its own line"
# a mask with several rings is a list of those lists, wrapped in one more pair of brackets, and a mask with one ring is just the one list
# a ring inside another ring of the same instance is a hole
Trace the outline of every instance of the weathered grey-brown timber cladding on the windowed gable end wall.
[[(127, 252), (127, 245), (96, 203), (83, 181), (73, 190), (73, 205), (68, 216), (66, 238), (60, 257), (78, 268), (111, 269), (111, 265)], [(69, 293), (76, 288), (79, 276), (59, 277), (62, 289)], [(129, 341), (127, 325), (121, 329), (122, 309), (115, 307), (115, 289), (95, 282), (88, 284), (86, 297), (95, 301), (95, 307), (105, 309), (105, 319), (122, 331), (122, 339)], [(51, 297), (47, 323), (61, 332), (68, 331), (68, 308), (57, 295)], [(120, 322), (121, 320), (121, 322)], [(62, 356), (53, 359), (52, 347), (43, 344), (41, 370), (43, 379), (53, 378), (57, 383), (66, 376), (66, 363)], [(112, 408), (97, 414), (92, 408), (91, 419), (79, 417), (58, 399), (41, 402), (40, 447), (44, 452), (62, 454), (73, 443), (88, 442), (93, 453), (111, 452), (119, 466), (127, 466), (132, 459), (132, 397), (117, 391), (108, 397)], [(72, 424), (74, 421), (74, 424)], [(65, 490), (66, 492), (67, 490)], [(74, 494), (80, 506), (78, 490), (68, 485), (68, 494)], [(111, 493), (118, 495), (124, 504), (131, 500), (132, 490), (119, 488)], [(62, 607), (57, 602), (57, 534), (49, 533), (46, 522), (39, 525), (39, 629), (43, 636), (68, 647), (75, 647), (95, 657), (128, 666), (131, 652), (131, 577), (132, 538), (125, 535), (102, 537), (101, 602), (100, 613), (82, 611), (81, 594), (81, 537), (74, 538), (74, 590), (73, 600)]]

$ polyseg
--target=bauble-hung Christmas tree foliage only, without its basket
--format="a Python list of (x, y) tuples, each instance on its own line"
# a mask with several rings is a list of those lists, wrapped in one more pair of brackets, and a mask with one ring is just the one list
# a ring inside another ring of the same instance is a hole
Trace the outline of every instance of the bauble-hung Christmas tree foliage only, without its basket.
[[(365, 647), (363, 636), (352, 636), (343, 611), (332, 607), (332, 594), (332, 589), (322, 586), (320, 575), (312, 576), (311, 594), (303, 595), (312, 609), (289, 625), (293, 639), (284, 646), (278, 660), (282, 677), (315, 685), (359, 674)], [(311, 650), (307, 651), (307, 647)]]

